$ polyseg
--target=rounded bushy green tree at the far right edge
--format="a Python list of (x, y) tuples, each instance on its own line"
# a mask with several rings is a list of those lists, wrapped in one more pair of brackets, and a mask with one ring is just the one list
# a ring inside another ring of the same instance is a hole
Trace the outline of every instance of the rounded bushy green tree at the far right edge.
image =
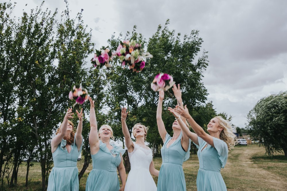
[(287, 157), (287, 91), (260, 99), (247, 115), (247, 129), (267, 154), (284, 152)]

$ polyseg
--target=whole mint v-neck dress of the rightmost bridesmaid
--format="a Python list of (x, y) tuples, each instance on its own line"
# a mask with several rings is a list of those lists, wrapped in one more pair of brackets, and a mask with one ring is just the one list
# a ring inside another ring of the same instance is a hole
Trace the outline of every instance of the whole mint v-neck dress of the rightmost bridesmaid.
[[(228, 147), (227, 144), (213, 137), (214, 147), (207, 144), (203, 139), (197, 137), (199, 145), (197, 156), (199, 159), (199, 170), (196, 179), (198, 191), (217, 191), (227, 190), (224, 180), (220, 174), (221, 168), (224, 168), (227, 162)], [(204, 148), (205, 147), (205, 148)]]

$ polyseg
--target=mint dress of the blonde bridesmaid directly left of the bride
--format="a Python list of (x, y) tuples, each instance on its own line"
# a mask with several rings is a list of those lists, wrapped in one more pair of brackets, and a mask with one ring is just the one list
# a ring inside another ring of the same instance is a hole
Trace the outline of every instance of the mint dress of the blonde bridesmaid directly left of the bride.
[[(91, 155), (93, 169), (90, 172), (87, 182), (86, 191), (119, 191), (120, 183), (117, 174), (117, 167), (121, 163), (121, 155), (125, 149), (110, 143), (113, 149), (109, 150), (106, 144), (100, 141), (99, 151)], [(113, 156), (116, 155), (116, 156)]]

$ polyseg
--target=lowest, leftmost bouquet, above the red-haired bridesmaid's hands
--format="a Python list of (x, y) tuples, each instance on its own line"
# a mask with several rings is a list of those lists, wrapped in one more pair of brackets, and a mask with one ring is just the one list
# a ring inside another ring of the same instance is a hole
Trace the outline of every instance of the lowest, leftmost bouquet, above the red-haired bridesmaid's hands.
[(76, 103), (73, 105), (73, 108), (79, 109), (79, 105), (82, 105), (88, 99), (88, 90), (76, 83), (69, 92), (69, 99), (74, 99)]

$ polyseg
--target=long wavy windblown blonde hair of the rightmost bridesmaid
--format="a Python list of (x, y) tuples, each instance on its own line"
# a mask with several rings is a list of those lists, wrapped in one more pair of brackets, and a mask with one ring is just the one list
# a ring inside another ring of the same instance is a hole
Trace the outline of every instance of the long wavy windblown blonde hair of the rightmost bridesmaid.
[(214, 118), (219, 119), (219, 127), (222, 127), (222, 131), (220, 133), (220, 139), (227, 144), (228, 151), (237, 144), (237, 137), (234, 133), (232, 133), (232, 127), (229, 121), (223, 119), (221, 116), (216, 116)]

